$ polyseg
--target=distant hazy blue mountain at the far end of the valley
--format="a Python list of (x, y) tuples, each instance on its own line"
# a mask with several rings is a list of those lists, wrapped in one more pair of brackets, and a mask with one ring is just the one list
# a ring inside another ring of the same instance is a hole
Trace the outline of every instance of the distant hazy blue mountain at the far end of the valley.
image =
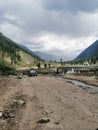
[(59, 61), (59, 59), (60, 59), (57, 56), (46, 54), (46, 53), (39, 52), (39, 51), (35, 51), (34, 53), (37, 56), (39, 56), (41, 59), (43, 59), (44, 61)]

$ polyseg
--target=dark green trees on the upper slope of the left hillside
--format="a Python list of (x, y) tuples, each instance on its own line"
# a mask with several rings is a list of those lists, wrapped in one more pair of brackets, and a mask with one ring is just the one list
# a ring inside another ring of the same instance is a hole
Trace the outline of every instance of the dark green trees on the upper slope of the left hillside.
[(21, 61), (19, 50), (20, 48), (15, 43), (0, 34), (0, 54), (2, 59), (7, 56), (10, 57), (11, 64), (17, 64), (18, 61)]

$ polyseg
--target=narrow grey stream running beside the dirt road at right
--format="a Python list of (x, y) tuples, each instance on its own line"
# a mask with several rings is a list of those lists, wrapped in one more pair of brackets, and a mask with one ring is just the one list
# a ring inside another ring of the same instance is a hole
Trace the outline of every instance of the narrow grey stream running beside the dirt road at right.
[(72, 80), (72, 79), (66, 79), (66, 81), (71, 83), (71, 84), (74, 84), (78, 87), (81, 87), (81, 88), (87, 90), (90, 93), (98, 94), (98, 87), (96, 87), (94, 85), (89, 85), (89, 84), (83, 83), (81, 81)]

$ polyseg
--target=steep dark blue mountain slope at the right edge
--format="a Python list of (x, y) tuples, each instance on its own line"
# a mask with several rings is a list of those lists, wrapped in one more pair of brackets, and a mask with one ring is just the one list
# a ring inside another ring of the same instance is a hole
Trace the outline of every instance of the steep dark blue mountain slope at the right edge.
[(98, 55), (98, 40), (96, 40), (92, 45), (86, 48), (82, 53), (77, 56), (77, 59), (88, 58)]

